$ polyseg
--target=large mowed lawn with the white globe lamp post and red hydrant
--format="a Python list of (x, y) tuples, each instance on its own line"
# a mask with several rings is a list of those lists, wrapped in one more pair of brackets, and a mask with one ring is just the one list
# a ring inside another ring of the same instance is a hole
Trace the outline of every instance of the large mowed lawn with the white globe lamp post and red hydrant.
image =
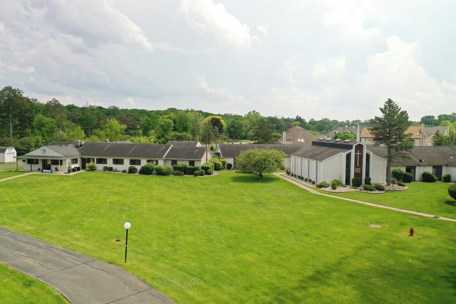
[(1, 182), (0, 197), (0, 226), (124, 268), (176, 303), (456, 300), (455, 222), (273, 175), (28, 175)]

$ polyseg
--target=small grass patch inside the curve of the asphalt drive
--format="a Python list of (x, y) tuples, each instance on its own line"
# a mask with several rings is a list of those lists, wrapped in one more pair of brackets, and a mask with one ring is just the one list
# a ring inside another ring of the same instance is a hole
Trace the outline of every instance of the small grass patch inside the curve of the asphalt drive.
[(0, 263), (0, 303), (68, 304), (69, 302), (45, 283)]

